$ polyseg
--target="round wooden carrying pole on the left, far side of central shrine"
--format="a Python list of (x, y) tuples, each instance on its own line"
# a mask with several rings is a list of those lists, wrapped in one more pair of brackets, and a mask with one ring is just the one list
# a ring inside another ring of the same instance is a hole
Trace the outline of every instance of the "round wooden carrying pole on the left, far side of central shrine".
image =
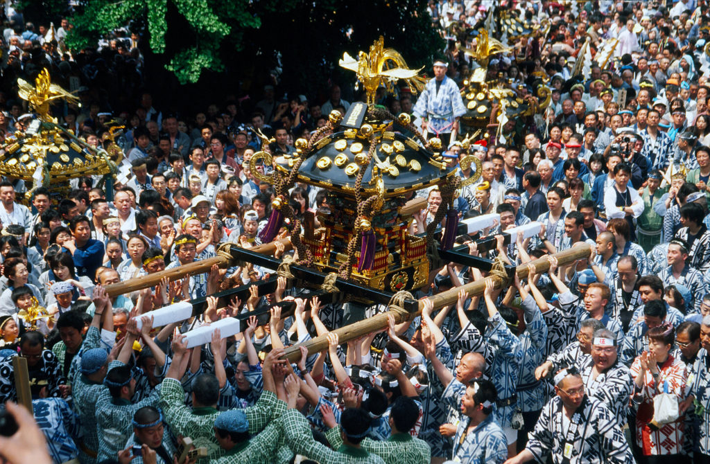
[[(279, 240), (283, 243), (284, 250), (288, 251), (292, 248), (290, 238), (282, 238)], [(274, 245), (275, 242), (265, 243), (263, 245), (257, 245), (251, 248), (252, 251), (256, 253), (263, 253), (265, 255), (273, 255), (276, 250)], [(163, 277), (168, 277), (172, 280), (180, 280), (188, 275), (202, 274), (202, 272), (209, 272), (213, 265), (218, 265), (219, 267), (228, 267), (229, 259), (225, 256), (217, 255), (214, 258), (207, 258), (206, 260), (195, 261), (194, 263), (182, 265), (175, 267), (173, 269), (166, 269), (160, 272), (155, 272), (154, 274), (145, 275), (143, 277), (136, 277), (134, 279), (126, 280), (126, 282), (118, 282), (116, 284), (111, 284), (106, 286), (106, 291), (109, 297), (113, 298), (121, 294), (136, 292), (137, 290), (142, 290), (148, 287), (155, 287), (163, 280)]]

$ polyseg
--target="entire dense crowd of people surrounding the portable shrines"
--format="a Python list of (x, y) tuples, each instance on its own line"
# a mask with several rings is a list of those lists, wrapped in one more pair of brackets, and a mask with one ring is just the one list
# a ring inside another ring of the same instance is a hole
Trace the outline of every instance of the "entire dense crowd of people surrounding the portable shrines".
[[(516, 40), (486, 74), (521, 98), (542, 79), (551, 101), (488, 140), (461, 143), (459, 89), (480, 67), (464, 48), (490, 26), (494, 6), (550, 28)], [(106, 286), (214, 257), (222, 243), (260, 245), (274, 198), (261, 174), (273, 166), (251, 165), (253, 155), (292, 154), (295, 140), (349, 109), (344, 94), (363, 93), (333, 84), (320, 101), (274, 82), (252, 99), (169, 112), (141, 88), (137, 33), (116, 31), (72, 57), (62, 43), (70, 21), (50, 37), (47, 25), (35, 31), (6, 9), (2, 137), (33, 118), (13, 79), (32, 82), (43, 67), (67, 88), (82, 84), (81, 106), (53, 106), (63, 126), (94, 147), (112, 143), (116, 118), (126, 131), (109, 194), (100, 177), (84, 177), (60, 201), (34, 189), (25, 206), (24, 182), (0, 182), (0, 401), (18, 426), (0, 427), (11, 436), (0, 436), (4, 460), (710, 463), (707, 2), (447, 0), (430, 1), (430, 14), (449, 44), (434, 77), (419, 96), (401, 88), (377, 103), (443, 140), (457, 177), (480, 174), (454, 207), (461, 218), (500, 220), (457, 243), (510, 265), (542, 258), (550, 269), (528, 265), (525, 278), (496, 289), (487, 272), (444, 263), (415, 292), (420, 316), (391, 317), (342, 343), (342, 304), (321, 304), (285, 277), (260, 296), (275, 270), (253, 263), (126, 294)], [(608, 62), (592, 57), (589, 75), (575, 72), (588, 60), (584, 43), (597, 53), (615, 39)], [(102, 92), (114, 84), (124, 92)], [(459, 165), (471, 155), (480, 173)], [(442, 189), (415, 194), (427, 203), (410, 232), (425, 233)], [(289, 192), (299, 219), (317, 218), (332, 199), (303, 183)], [(533, 221), (537, 236), (504, 241), (503, 231)], [(287, 236), (275, 238), (276, 258), (293, 254)], [(478, 249), (485, 236), (496, 237), (495, 250)], [(558, 263), (580, 242), (589, 255)], [(476, 280), (486, 280), (483, 294), (461, 291), (440, 309), (427, 298)], [(244, 302), (220, 307), (212, 297), (250, 284)], [(201, 297), (200, 316), (167, 326), (144, 316)], [(282, 317), (281, 302), (293, 316)], [(187, 347), (191, 328), (263, 311), (266, 324), (251, 316), (235, 336), (218, 329)], [(285, 360), (285, 348), (315, 336), (327, 349), (301, 346), (295, 363)], [(16, 356), (28, 365), (33, 418), (13, 404)]]

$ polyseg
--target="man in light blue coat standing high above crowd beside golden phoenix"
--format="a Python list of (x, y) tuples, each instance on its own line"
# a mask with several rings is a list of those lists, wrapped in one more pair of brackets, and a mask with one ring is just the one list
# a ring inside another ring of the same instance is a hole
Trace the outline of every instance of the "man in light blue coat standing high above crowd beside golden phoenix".
[(439, 137), (444, 146), (456, 140), (459, 118), (466, 114), (459, 87), (446, 75), (448, 66), (444, 60), (434, 62), (435, 77), (427, 82), (413, 110), (422, 118), (422, 131), (428, 132), (429, 138)]

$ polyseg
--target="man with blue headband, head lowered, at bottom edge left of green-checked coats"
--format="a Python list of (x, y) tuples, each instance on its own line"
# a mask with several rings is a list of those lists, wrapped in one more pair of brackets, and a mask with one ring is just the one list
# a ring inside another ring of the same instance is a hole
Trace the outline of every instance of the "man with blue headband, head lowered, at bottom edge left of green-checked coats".
[[(244, 413), (242, 413), (244, 414)], [(155, 451), (155, 464), (173, 464), (176, 453), (175, 443), (173, 443), (170, 433), (165, 433), (163, 423), (163, 413), (152, 406), (146, 406), (133, 414), (133, 435), (129, 438), (124, 449), (143, 448), (144, 446)], [(145, 448), (143, 448), (145, 449)], [(146, 463), (146, 456), (141, 453), (133, 453), (131, 464)]]

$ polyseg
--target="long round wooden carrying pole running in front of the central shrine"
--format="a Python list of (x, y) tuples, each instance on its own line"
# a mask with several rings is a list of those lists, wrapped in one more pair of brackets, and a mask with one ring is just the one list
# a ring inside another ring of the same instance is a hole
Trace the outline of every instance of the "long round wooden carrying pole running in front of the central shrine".
[[(586, 258), (589, 256), (590, 252), (591, 246), (588, 243), (579, 242), (574, 245), (574, 247), (569, 248), (569, 250), (556, 253), (555, 257), (557, 258), (559, 265), (564, 266), (574, 263), (574, 261), (581, 258)], [(547, 258), (533, 260), (530, 264), (535, 265), (535, 272), (546, 272), (550, 269), (550, 261), (548, 261)], [(528, 264), (519, 265), (515, 268), (515, 272), (518, 274), (518, 277), (526, 277), (528, 275)], [(495, 282), (495, 288), (501, 288), (503, 285), (501, 277), (491, 276), (490, 278), (493, 279), (493, 282)], [(471, 297), (481, 295), (484, 293), (484, 289), (486, 288), (486, 281), (476, 280), (474, 282), (469, 282), (463, 287), (454, 287), (445, 292), (429, 297), (429, 299), (434, 303), (434, 309), (443, 308), (449, 304), (455, 304), (459, 298), (459, 291), (461, 288), (465, 289)], [(359, 338), (367, 333), (387, 327), (389, 314), (392, 314), (395, 317), (395, 321), (399, 324), (400, 322), (407, 319), (413, 319), (415, 316), (421, 314), (423, 308), (424, 302), (420, 300), (419, 309), (415, 313), (409, 314), (391, 309), (390, 311), (376, 314), (376, 316), (365, 319), (364, 321), (358, 321), (354, 324), (350, 324), (349, 326), (337, 328), (334, 332), (338, 334), (339, 342), (345, 343), (346, 341)], [(308, 354), (312, 355), (313, 353), (319, 353), (322, 350), (326, 350), (328, 348), (328, 340), (324, 335), (317, 336), (316, 338), (312, 338), (310, 341), (307, 341), (304, 346), (308, 348)], [(293, 345), (286, 348), (285, 358), (288, 358), (291, 362), (296, 362), (300, 358), (299, 345)]]

